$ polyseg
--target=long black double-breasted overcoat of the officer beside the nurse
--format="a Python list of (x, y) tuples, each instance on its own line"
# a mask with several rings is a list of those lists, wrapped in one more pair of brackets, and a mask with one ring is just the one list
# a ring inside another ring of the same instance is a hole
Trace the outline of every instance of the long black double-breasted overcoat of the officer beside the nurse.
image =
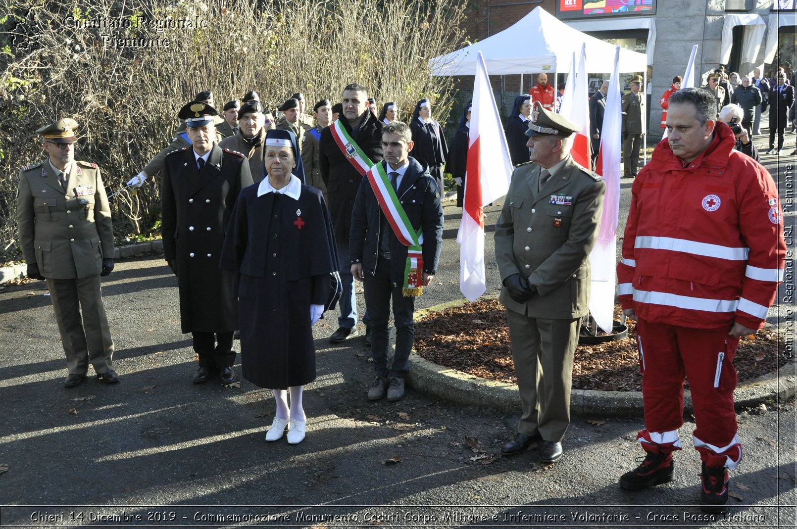
[(188, 147), (163, 165), (163, 253), (174, 261), (183, 332), (238, 329), (238, 308), (228, 272), (218, 268), (224, 232), (238, 194), (252, 184), (243, 155), (214, 144), (198, 170)]

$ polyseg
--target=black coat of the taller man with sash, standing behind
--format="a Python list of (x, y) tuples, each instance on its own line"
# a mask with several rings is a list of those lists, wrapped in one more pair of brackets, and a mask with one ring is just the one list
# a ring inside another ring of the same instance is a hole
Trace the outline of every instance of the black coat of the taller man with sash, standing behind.
[[(353, 135), (351, 125), (346, 118), (341, 117), (340, 123), (371, 162), (381, 162), (382, 123), (371, 112), (365, 114), (363, 123)], [(332, 225), (335, 226), (335, 238), (339, 245), (348, 245), (351, 208), (354, 207), (354, 198), (357, 196), (359, 182), (363, 176), (351, 165), (343, 151), (340, 151), (335, 138), (332, 137), (332, 125), (321, 131), (319, 149), (319, 169), (321, 179), (327, 186), (329, 214), (332, 217)]]

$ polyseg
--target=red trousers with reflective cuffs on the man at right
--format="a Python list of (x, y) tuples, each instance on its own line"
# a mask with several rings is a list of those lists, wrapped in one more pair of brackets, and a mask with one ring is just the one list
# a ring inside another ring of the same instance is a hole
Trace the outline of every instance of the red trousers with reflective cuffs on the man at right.
[(681, 449), (676, 430), (684, 424), (684, 378), (688, 378), (697, 425), (694, 447), (702, 460), (714, 464), (724, 456), (724, 466), (734, 468), (741, 459), (732, 363), (739, 339), (728, 336), (724, 328), (694, 329), (642, 319), (637, 333), (645, 403), (645, 429), (637, 436), (642, 448), (654, 453)]

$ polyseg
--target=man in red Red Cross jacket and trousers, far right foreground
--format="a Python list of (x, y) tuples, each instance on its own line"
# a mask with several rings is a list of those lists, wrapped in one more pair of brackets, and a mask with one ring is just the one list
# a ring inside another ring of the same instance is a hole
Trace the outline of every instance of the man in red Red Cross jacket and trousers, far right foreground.
[(629, 490), (673, 479), (689, 379), (701, 455), (701, 504), (724, 509), (728, 469), (742, 457), (736, 435), (733, 357), (740, 336), (764, 326), (783, 280), (783, 210), (770, 174), (734, 150), (717, 125), (713, 94), (673, 93), (667, 138), (631, 190), (617, 267), (623, 314), (638, 319), (646, 457), (620, 477)]

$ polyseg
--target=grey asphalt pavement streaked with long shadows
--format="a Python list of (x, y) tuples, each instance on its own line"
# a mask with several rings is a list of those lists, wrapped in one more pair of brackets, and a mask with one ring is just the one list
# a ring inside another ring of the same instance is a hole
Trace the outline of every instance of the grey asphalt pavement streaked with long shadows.
[[(787, 206), (794, 160), (763, 161)], [(630, 183), (622, 181), (621, 211)], [(500, 204), (485, 210), (490, 293), (500, 288), (490, 236)], [(446, 206), (442, 264), (418, 308), (461, 297), (460, 218)], [(785, 330), (794, 328), (793, 291), (787, 273), (770, 318)], [(674, 480), (646, 491), (617, 484), (643, 455), (638, 416), (575, 417), (556, 464), (541, 464), (536, 449), (503, 458), (520, 403), (499, 412), (423, 388), (369, 402), (369, 351), (361, 337), (328, 343), (333, 313), (315, 329), (307, 438), (267, 444), (269, 391), (245, 380), (190, 382), (194, 352), (161, 257), (118, 262), (103, 292), (120, 383), (92, 377), (73, 389), (61, 385), (65, 360), (45, 284), (0, 292), (0, 527), (795, 527), (793, 398), (740, 410), (744, 460), (732, 472), (731, 508), (710, 519), (697, 507), (691, 417), (679, 430)]]

